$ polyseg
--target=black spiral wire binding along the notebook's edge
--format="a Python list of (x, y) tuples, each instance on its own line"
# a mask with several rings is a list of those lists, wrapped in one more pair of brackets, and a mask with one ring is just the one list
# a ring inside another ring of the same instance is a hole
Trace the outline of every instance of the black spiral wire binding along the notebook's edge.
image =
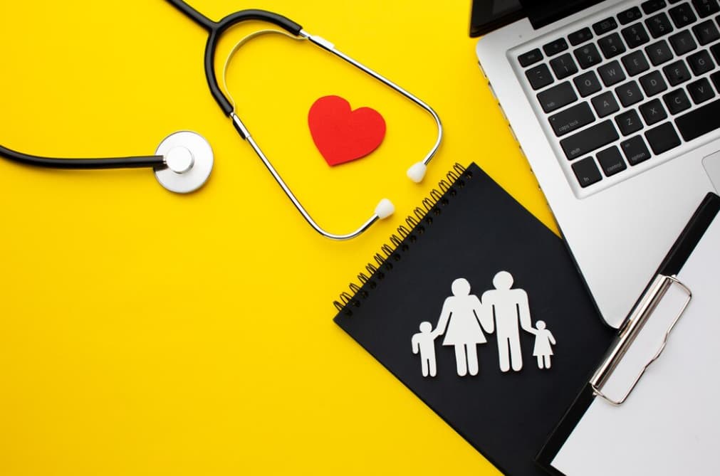
[(340, 293), (338, 301), (333, 301), (333, 306), (338, 312), (344, 312), (346, 316), (352, 316), (352, 307), (359, 308), (361, 306), (360, 298), (366, 298), (369, 296), (369, 292), (364, 288), (374, 289), (377, 288), (377, 282), (385, 278), (385, 272), (392, 270), (392, 261), (400, 261), (402, 259), (402, 252), (407, 251), (410, 246), (404, 242), (405, 239), (410, 243), (414, 243), (418, 239), (418, 235), (425, 232), (425, 226), (433, 223), (432, 215), (438, 216), (441, 214), (441, 209), (438, 207), (446, 206), (449, 203), (446, 196), (455, 196), (457, 194), (457, 188), (463, 188), (465, 186), (462, 178), (472, 178), (472, 173), (467, 172), (465, 168), (459, 163), (453, 165), (443, 180), (438, 182), (438, 191), (433, 188), (430, 191), (430, 195), (423, 198), (421, 206), (415, 207), (413, 213), (405, 218), (405, 224), (397, 227), (397, 232), (390, 235), (388, 242), (390, 244), (383, 244), (380, 247), (379, 252), (373, 256), (374, 264), (369, 262), (365, 265), (365, 271), (361, 271), (357, 275), (357, 283), (350, 283), (348, 288), (350, 292), (343, 291)]

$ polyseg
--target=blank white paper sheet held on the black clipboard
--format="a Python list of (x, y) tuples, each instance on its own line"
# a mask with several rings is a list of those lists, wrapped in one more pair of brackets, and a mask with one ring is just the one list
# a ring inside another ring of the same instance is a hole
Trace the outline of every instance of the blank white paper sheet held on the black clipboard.
[[(692, 301), (628, 400), (595, 398), (552, 460), (565, 475), (720, 474), (720, 220), (678, 279)], [(670, 288), (603, 387), (621, 394), (662, 342), (686, 295)]]

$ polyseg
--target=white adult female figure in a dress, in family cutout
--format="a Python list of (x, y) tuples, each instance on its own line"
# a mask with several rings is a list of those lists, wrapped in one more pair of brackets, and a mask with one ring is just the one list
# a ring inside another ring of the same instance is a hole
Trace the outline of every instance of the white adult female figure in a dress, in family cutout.
[(470, 283), (458, 278), (452, 283), (453, 296), (446, 298), (440, 319), (433, 333), (445, 334), (443, 345), (455, 346), (457, 375), (464, 377), (477, 375), (480, 366), (477, 362), (477, 344), (485, 344), (485, 334), (494, 331), (495, 323), (480, 303), (480, 299), (470, 294)]

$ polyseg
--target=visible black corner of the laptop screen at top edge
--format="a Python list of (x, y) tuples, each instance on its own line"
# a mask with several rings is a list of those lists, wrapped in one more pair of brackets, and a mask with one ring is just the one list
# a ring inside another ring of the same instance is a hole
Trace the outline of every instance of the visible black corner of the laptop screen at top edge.
[(474, 0), (470, 36), (485, 35), (525, 17), (537, 29), (600, 1), (602, 0)]

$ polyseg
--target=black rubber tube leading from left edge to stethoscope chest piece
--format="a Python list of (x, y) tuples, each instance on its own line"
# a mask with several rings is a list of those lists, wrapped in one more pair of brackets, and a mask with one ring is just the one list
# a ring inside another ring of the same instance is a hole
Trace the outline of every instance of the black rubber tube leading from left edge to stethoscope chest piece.
[(45, 168), (66, 169), (108, 169), (108, 168), (161, 168), (165, 167), (162, 155), (147, 155), (137, 157), (110, 157), (93, 159), (70, 159), (58, 157), (39, 157), (37, 155), (23, 154), (16, 150), (0, 145), (0, 155), (12, 162), (23, 165), (35, 165)]

